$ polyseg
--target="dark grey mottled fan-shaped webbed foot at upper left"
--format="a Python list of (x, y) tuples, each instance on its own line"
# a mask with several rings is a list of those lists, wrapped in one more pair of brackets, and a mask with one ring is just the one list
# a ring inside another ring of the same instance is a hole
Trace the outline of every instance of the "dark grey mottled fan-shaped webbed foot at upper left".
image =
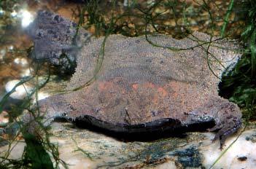
[(90, 40), (90, 33), (76, 23), (45, 10), (39, 10), (26, 32), (34, 42), (32, 58), (48, 60), (63, 71), (75, 68), (77, 52)]

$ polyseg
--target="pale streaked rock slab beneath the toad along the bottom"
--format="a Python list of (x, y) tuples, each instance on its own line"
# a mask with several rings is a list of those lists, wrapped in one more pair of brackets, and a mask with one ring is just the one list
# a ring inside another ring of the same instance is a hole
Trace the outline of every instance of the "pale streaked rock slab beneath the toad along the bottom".
[[(220, 155), (222, 157), (212, 167), (255, 168), (255, 143), (247, 137), (255, 135), (255, 124), (247, 127), (225, 154), (212, 143), (213, 133), (187, 133), (186, 137), (165, 138), (150, 142), (120, 141), (90, 130), (72, 127), (69, 123), (53, 122), (50, 133), (51, 143), (58, 145), (59, 158), (69, 164), (70, 169), (79, 168), (211, 168)], [(238, 136), (231, 135), (230, 145)], [(12, 144), (9, 159), (19, 159), (23, 155), (24, 142)], [(9, 145), (1, 146), (0, 152), (7, 152)], [(247, 157), (247, 160), (238, 160)], [(61, 165), (61, 164), (60, 164)], [(63, 166), (60, 166), (63, 168)]]

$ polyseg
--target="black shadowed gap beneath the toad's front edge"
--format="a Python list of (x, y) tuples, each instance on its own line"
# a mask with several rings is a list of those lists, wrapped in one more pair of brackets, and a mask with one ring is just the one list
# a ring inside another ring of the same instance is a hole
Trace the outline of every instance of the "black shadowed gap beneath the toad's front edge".
[(139, 125), (117, 124), (103, 122), (91, 116), (79, 117), (73, 123), (80, 128), (103, 133), (122, 141), (153, 141), (171, 136), (182, 137), (191, 131), (205, 131), (215, 125), (214, 120), (208, 122), (182, 125), (177, 119), (158, 119)]

